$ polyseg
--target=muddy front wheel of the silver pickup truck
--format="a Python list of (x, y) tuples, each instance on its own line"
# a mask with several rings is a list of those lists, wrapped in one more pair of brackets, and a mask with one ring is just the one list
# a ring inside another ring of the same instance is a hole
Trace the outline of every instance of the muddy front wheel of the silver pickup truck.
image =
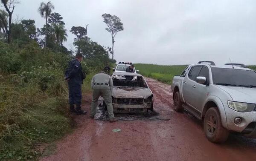
[(207, 110), (204, 117), (204, 133), (213, 143), (223, 143), (227, 140), (229, 131), (222, 126), (221, 115), (217, 107)]

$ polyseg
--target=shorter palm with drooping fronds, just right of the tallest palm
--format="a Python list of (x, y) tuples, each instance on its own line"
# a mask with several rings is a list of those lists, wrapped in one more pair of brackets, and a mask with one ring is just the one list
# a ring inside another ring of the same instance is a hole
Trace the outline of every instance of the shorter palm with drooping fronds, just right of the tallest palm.
[(53, 24), (55, 43), (62, 46), (63, 41), (67, 41), (67, 30), (64, 25)]

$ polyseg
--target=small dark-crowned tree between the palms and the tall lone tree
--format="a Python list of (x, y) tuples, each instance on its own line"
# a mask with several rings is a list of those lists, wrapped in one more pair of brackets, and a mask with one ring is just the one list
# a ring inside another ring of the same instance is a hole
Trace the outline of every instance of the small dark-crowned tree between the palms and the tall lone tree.
[[(87, 25), (88, 26), (88, 25)], [(87, 28), (86, 26), (86, 28)], [(87, 40), (87, 29), (81, 26), (73, 26), (70, 30), (70, 32), (74, 35), (76, 35), (76, 38), (74, 39), (74, 45), (77, 46), (77, 53), (81, 53), (81, 43), (79, 43), (81, 40)]]

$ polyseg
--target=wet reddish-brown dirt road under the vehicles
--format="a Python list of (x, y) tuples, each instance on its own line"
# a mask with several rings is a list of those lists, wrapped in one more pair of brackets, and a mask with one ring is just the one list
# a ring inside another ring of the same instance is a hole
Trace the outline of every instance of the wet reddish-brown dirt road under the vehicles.
[[(225, 144), (204, 137), (201, 122), (173, 111), (169, 85), (147, 78), (154, 109), (164, 120), (97, 121), (76, 118), (77, 129), (56, 142), (55, 155), (42, 161), (253, 161), (256, 140), (230, 135)], [(84, 98), (89, 111), (91, 98)], [(112, 132), (112, 129), (122, 129)]]

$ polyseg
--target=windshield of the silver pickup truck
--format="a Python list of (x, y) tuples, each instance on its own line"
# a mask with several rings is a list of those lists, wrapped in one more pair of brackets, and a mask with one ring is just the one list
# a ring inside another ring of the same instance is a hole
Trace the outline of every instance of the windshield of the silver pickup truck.
[(241, 69), (212, 68), (213, 84), (256, 87), (256, 72)]

